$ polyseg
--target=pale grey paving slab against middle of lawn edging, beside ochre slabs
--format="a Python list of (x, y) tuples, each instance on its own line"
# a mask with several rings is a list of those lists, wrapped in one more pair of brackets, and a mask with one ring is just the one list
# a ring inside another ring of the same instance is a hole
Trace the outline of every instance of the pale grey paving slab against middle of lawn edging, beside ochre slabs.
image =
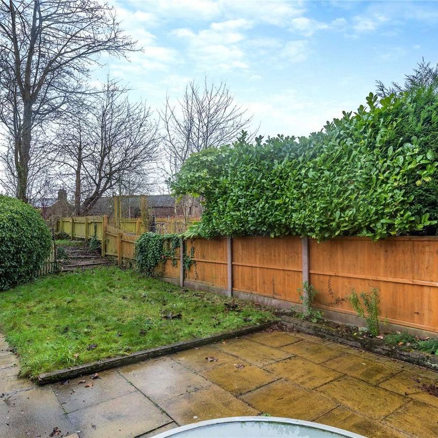
[(211, 385), (202, 376), (166, 357), (121, 368), (120, 374), (156, 403)]

